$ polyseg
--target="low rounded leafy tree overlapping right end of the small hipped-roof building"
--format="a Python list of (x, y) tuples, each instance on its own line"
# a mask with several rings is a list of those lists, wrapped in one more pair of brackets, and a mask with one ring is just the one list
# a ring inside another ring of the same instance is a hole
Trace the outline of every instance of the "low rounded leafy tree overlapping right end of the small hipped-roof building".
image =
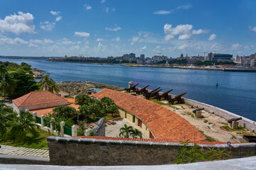
[(57, 108), (53, 108), (53, 113), (57, 117), (64, 116), (65, 118), (74, 118), (77, 111), (71, 106), (62, 105), (58, 106)]

